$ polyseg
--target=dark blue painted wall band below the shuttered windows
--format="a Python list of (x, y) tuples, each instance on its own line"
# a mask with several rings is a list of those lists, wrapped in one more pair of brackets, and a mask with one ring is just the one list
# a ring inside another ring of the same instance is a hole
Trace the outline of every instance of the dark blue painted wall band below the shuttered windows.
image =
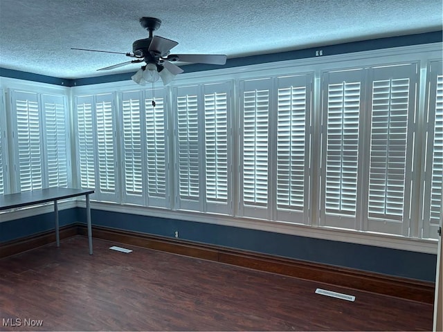
[[(85, 221), (85, 209), (60, 211), (60, 226)], [(136, 214), (91, 210), (93, 225), (174, 237), (374, 273), (435, 282), (437, 255), (366, 246), (233, 226), (163, 219)], [(0, 243), (54, 229), (54, 214), (0, 223)]]

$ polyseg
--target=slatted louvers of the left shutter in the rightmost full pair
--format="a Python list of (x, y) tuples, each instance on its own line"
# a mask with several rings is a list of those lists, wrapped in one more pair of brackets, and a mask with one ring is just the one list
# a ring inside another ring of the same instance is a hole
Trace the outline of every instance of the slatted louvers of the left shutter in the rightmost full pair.
[(326, 213), (356, 213), (360, 94), (360, 82), (328, 86)]

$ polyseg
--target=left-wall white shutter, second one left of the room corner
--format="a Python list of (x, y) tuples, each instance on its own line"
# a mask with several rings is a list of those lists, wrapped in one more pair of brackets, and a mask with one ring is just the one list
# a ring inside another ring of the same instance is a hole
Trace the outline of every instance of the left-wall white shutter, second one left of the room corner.
[(42, 189), (42, 132), (37, 93), (12, 91), (12, 109), (17, 124), (19, 190)]

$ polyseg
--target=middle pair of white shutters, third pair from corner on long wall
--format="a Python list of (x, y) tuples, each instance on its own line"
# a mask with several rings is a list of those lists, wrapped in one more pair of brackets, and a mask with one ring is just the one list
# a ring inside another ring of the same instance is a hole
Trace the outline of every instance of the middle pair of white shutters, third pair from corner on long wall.
[(232, 214), (230, 82), (179, 86), (177, 208)]

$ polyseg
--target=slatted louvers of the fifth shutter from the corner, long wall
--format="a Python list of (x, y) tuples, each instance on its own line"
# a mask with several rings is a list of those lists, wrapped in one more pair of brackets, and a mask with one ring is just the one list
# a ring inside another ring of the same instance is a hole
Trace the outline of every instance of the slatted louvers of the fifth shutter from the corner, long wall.
[(199, 127), (197, 95), (177, 97), (179, 196), (199, 200)]

